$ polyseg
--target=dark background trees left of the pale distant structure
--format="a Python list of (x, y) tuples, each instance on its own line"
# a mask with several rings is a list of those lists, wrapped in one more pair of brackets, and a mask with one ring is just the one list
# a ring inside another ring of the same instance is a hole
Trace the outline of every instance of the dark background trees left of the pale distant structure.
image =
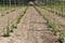
[(0, 0), (0, 4), (23, 4), (27, 3), (28, 0)]

